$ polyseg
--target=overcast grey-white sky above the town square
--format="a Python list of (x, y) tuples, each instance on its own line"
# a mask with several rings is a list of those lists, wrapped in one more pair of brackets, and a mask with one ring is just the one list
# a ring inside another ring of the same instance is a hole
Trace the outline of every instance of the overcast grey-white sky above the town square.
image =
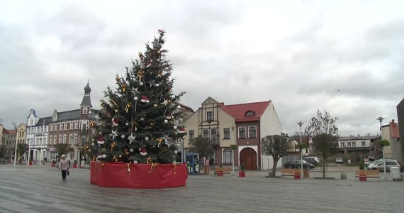
[(318, 109), (341, 136), (376, 135), (404, 98), (404, 1), (1, 1), (0, 118), (99, 109), (165, 29), (174, 93), (196, 110), (271, 100), (282, 131)]

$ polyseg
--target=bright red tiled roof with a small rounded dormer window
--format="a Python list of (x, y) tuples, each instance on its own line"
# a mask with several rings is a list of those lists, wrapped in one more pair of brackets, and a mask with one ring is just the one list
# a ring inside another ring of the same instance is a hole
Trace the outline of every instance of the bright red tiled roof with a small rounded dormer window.
[[(256, 102), (247, 104), (234, 104), (223, 105), (220, 109), (223, 109), (226, 113), (235, 118), (236, 122), (242, 121), (259, 121), (266, 107), (269, 106), (271, 101), (268, 102)], [(251, 112), (252, 116), (246, 116), (247, 112)]]

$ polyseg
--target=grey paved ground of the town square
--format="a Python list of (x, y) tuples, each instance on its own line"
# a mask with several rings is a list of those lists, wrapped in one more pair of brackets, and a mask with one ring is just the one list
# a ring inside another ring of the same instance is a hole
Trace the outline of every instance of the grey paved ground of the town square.
[[(88, 169), (67, 181), (50, 165), (0, 165), (0, 212), (404, 212), (404, 182), (354, 179), (356, 168), (334, 168), (319, 180), (190, 175), (185, 187), (159, 190), (105, 188), (89, 183)], [(312, 178), (313, 177), (313, 178)], [(118, 181), (118, 180), (117, 180)]]

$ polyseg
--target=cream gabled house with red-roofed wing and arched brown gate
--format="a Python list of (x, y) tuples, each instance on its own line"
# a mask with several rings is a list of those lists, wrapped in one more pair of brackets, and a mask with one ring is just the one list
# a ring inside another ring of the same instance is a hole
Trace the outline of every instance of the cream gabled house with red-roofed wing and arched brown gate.
[[(272, 167), (271, 156), (261, 153), (261, 138), (281, 134), (281, 123), (271, 101), (225, 105), (208, 97), (184, 126), (188, 130), (184, 138), (186, 151), (190, 140), (202, 136), (213, 146), (208, 157), (211, 162), (228, 166), (244, 164), (247, 170)], [(232, 150), (231, 145), (237, 148)]]

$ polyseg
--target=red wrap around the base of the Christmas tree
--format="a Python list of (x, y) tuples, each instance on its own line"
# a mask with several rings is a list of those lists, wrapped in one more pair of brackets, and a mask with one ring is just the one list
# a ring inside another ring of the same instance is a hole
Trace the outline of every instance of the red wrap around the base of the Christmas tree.
[(90, 182), (100, 187), (158, 189), (186, 185), (186, 164), (91, 162)]

